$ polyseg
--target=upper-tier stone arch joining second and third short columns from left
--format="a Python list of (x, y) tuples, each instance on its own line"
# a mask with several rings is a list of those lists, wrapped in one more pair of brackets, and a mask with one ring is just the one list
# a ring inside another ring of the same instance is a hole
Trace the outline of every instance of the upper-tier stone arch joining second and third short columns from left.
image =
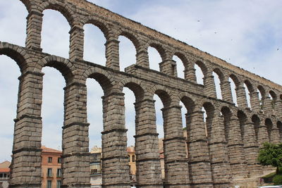
[(95, 16), (87, 16), (82, 20), (82, 27), (86, 24), (92, 24), (96, 27), (99, 28), (104, 34), (104, 37), (106, 39), (109, 39), (109, 32), (110, 32), (110, 27), (107, 23), (104, 23), (103, 20), (95, 17)]

